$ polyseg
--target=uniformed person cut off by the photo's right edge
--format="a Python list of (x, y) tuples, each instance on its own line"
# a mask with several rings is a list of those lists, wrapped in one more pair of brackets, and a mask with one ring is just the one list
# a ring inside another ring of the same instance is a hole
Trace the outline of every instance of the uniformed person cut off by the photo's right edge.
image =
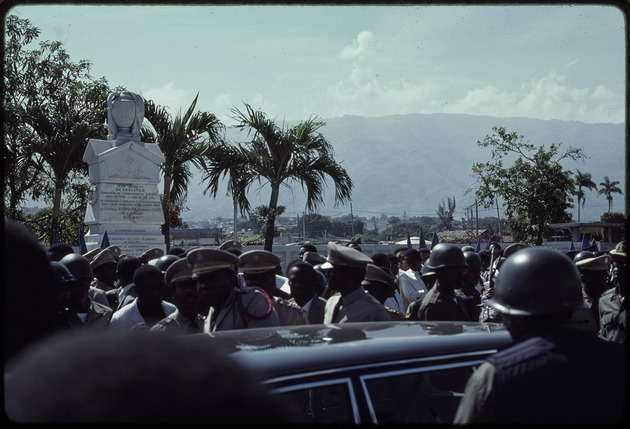
[(626, 319), (626, 269), (628, 245), (622, 241), (610, 251), (613, 258), (612, 288), (599, 298), (599, 336), (614, 343), (625, 343), (628, 332)]

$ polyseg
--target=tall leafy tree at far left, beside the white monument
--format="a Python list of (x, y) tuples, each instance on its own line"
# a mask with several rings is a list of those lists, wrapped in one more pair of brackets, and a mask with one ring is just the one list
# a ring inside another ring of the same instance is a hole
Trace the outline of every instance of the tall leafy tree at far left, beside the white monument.
[[(11, 162), (16, 169), (19, 165), (27, 168), (25, 175), (10, 179), (13, 184), (9, 187), (16, 193), (13, 198), (19, 200), (20, 187), (34, 184), (32, 196), (50, 202), (47, 235), (52, 237), (59, 233), (62, 201), (70, 190), (72, 174), (87, 173), (82, 159), (87, 141), (106, 137), (103, 124), (109, 88), (105, 78), (94, 80), (90, 76), (88, 61), (73, 62), (61, 42), (44, 41), (38, 48), (26, 50), (25, 42), (33, 41), (38, 31), (28, 20), (10, 17), (8, 21), (13, 31), (8, 42), (11, 60), (17, 62), (5, 77), (7, 89), (11, 88), (7, 92), (12, 93), (7, 106), (11, 118), (9, 146), (13, 149), (9, 168)], [(22, 49), (17, 53), (20, 44)], [(38, 177), (33, 180), (31, 173)]]

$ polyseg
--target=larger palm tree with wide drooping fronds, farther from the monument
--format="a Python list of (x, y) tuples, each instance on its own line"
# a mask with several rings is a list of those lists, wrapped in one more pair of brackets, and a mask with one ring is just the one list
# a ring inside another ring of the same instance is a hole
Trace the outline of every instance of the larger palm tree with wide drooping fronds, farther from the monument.
[(271, 251), (280, 187), (299, 183), (306, 190), (306, 209), (323, 203), (326, 178), (335, 184), (335, 206), (350, 200), (353, 183), (348, 173), (333, 159), (333, 148), (319, 133), (325, 125), (317, 117), (288, 129), (279, 128), (261, 111), (245, 104), (245, 112), (233, 108), (235, 127), (246, 130), (251, 141), (229, 145), (218, 143), (208, 151), (208, 164), (202, 180), (205, 192), (216, 196), (220, 181), (229, 177), (228, 192), (241, 213), (250, 211), (247, 191), (254, 184), (271, 188), (265, 224), (265, 250)]

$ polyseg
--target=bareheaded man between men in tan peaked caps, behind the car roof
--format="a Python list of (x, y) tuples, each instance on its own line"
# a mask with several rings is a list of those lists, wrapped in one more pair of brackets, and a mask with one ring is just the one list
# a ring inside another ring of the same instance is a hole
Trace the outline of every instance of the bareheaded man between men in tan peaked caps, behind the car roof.
[(318, 295), (317, 271), (307, 262), (297, 261), (287, 271), (293, 296), (289, 301), (299, 306), (309, 323), (324, 323), (326, 300)]

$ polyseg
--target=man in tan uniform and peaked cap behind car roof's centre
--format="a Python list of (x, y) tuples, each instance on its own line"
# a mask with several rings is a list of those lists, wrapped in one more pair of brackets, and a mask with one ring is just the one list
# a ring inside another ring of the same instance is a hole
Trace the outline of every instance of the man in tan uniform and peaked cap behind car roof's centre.
[(361, 286), (367, 264), (374, 262), (370, 257), (329, 242), (326, 260), (322, 268), (330, 270), (328, 286), (338, 293), (326, 302), (324, 323), (391, 321), (385, 306)]

